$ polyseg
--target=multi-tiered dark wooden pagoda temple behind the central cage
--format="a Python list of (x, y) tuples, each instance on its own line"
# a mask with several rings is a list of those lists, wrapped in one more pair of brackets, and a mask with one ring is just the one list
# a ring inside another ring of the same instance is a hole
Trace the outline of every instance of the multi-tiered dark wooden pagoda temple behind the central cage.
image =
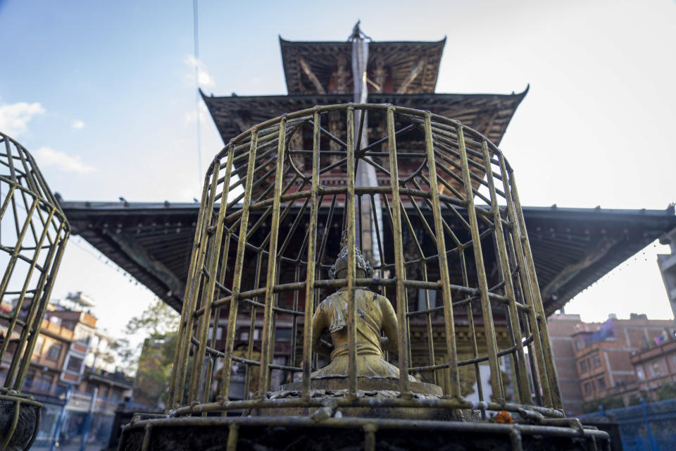
[[(363, 33), (356, 28), (356, 34), (353, 33), (353, 37), (346, 42), (289, 42), (280, 39), (284, 77), (289, 92), (287, 95), (245, 97), (232, 94), (214, 97), (202, 93), (223, 142), (230, 142), (233, 137), (245, 132), (251, 126), (285, 113), (312, 108), (315, 105), (368, 102), (429, 110), (461, 121), (495, 144), (499, 144), (509, 121), (527, 94), (527, 89), (520, 94), (436, 93), (434, 90), (445, 39), (439, 42), (373, 42), (363, 38)], [(361, 54), (356, 44), (361, 45)], [(361, 61), (356, 61), (355, 58), (360, 55)], [(356, 70), (356, 66), (363, 70)], [(355, 74), (360, 73), (363, 74), (363, 78), (357, 80)], [(363, 88), (361, 93), (357, 92), (360, 89), (359, 82)], [(331, 151), (336, 154), (343, 152), (346, 141), (346, 137), (340, 135), (340, 130), (346, 130), (344, 123), (341, 122), (343, 120), (339, 114), (332, 116), (332, 113), (323, 119), (325, 123), (323, 122), (321, 127), (326, 135), (332, 137), (330, 143), (332, 147), (328, 150), (328, 154), (331, 154)], [(376, 144), (383, 144), (382, 137), (387, 136), (387, 130), (382, 128), (384, 121), (376, 116), (359, 118), (355, 121), (356, 129), (359, 130), (357, 142), (360, 142), (363, 149), (373, 149)], [(311, 149), (310, 133), (310, 130), (300, 127), (289, 131), (289, 148), (293, 149), (289, 151), (289, 155), (294, 162), (297, 175), (307, 175), (309, 171), (309, 167), (306, 168), (309, 151), (304, 149)], [(403, 128), (401, 133), (397, 141), (406, 149), (404, 152), (410, 152), (410, 166), (413, 168), (415, 159), (419, 158), (423, 141), (415, 128)], [(246, 152), (246, 149), (239, 149), (239, 154), (243, 152)], [(237, 153), (234, 156), (236, 158), (234, 171), (239, 174), (246, 173), (244, 166), (246, 159), (237, 159)], [(453, 165), (453, 161), (446, 163)], [(378, 164), (377, 156), (373, 157), (373, 164)], [(406, 171), (406, 165), (404, 166), (403, 170)], [(271, 171), (273, 170), (271, 168)], [(477, 167), (470, 170), (474, 173), (472, 183), (475, 181), (481, 183), (482, 170)], [(256, 181), (254, 194), (265, 193), (270, 189), (265, 177), (263, 174)], [(292, 173), (286, 177), (289, 181), (287, 192), (292, 193), (294, 188), (291, 185), (302, 182)], [(345, 179), (345, 175), (339, 171), (327, 171), (323, 177), (322, 183), (325, 185), (340, 185)], [(444, 190), (452, 192), (457, 186), (457, 180), (452, 178), (444, 180), (442, 176), (439, 180), (441, 180), (439, 190), (442, 192)], [(372, 180), (372, 183), (387, 185), (390, 182), (383, 179), (381, 173), (376, 180)], [(241, 197), (228, 199), (229, 204), (232, 204), (228, 206), (229, 214), (237, 214), (237, 210), (242, 206), (241, 201)], [(177, 311), (181, 310), (199, 204), (62, 202), (62, 206), (73, 227), (73, 233), (84, 237)], [(321, 205), (319, 217), (322, 223), (319, 233), (327, 242), (327, 256), (332, 256), (331, 259), (320, 262), (323, 268), (332, 264), (332, 258), (339, 250), (342, 225), (337, 218), (344, 216), (343, 206), (340, 199), (336, 200), (335, 197), (333, 204), (327, 198)], [(418, 209), (415, 203), (404, 204), (404, 207), (411, 211)], [(294, 208), (297, 213), (298, 207)], [(374, 209), (380, 210), (377, 206)], [(673, 207), (664, 211), (631, 211), (525, 206), (523, 211), (546, 314), (563, 307), (565, 302), (599, 280), (612, 268), (676, 227)], [(444, 212), (444, 215), (446, 214), (449, 212)], [(415, 235), (420, 237), (420, 245), (430, 245), (430, 242), (425, 242), (423, 224), (415, 221), (413, 213), (411, 218), (413, 219), (410, 227), (415, 230)], [(463, 218), (449, 217), (447, 220), (452, 223), (463, 221)], [(250, 221), (260, 223), (260, 230), (265, 230), (264, 211), (252, 212)], [(280, 235), (285, 237), (287, 231), (280, 230)], [(234, 252), (234, 247), (232, 246), (229, 252)], [(413, 242), (405, 243), (404, 252), (408, 250), (415, 252), (412, 248)], [(485, 252), (491, 254), (494, 250), (487, 246)], [(365, 254), (368, 255), (368, 252)], [(384, 259), (392, 261), (392, 256), (387, 255), (387, 249)], [(496, 261), (494, 256), (489, 256), (487, 260)], [(460, 268), (450, 270), (451, 277), (461, 272)], [(492, 282), (490, 278), (497, 270), (496, 268), (487, 270), (490, 284)], [(257, 278), (255, 274), (255, 267), (245, 268), (243, 278), (249, 279), (247, 283), (253, 283), (252, 280)], [(471, 278), (473, 275), (469, 276)], [(298, 277), (299, 275), (296, 275), (296, 278)], [(437, 276), (430, 274), (430, 278), (434, 277)], [(282, 278), (282, 281), (284, 280)], [(292, 279), (289, 278), (289, 281)], [(253, 299), (253, 302), (255, 304), (256, 299)], [(419, 310), (420, 302), (417, 292), (408, 294), (411, 311)], [(440, 308), (437, 299), (430, 299), (430, 306), (432, 309)], [(280, 297), (280, 308), (297, 310), (297, 299)], [(501, 312), (496, 315), (496, 326), (503, 324), (500, 315)], [(243, 355), (256, 352), (260, 346), (258, 335), (260, 330), (256, 315), (253, 315), (253, 319), (250, 326), (238, 330), (235, 335), (234, 350), (241, 349), (242, 352), (248, 353)], [(458, 322), (456, 330), (462, 335), (465, 333), (463, 319), (458, 318), (456, 322)], [(224, 328), (226, 323), (227, 314), (224, 309), (218, 323), (213, 327)], [(280, 368), (293, 366), (294, 362), (297, 362), (299, 326), (301, 325), (296, 316), (290, 315), (288, 319), (281, 316), (280, 323), (277, 323), (280, 334), (275, 337), (273, 364)], [(506, 326), (497, 332), (498, 340), (506, 340)], [(412, 338), (425, 333), (427, 330), (423, 324), (411, 321)], [(225, 336), (217, 332), (215, 337), (215, 347), (219, 349)], [(444, 340), (443, 335), (436, 332), (432, 338), (434, 342)], [(424, 345), (423, 340), (417, 341)], [(459, 336), (458, 343), (466, 348), (459, 350), (459, 353), (470, 352), (468, 340)], [(253, 347), (249, 344), (253, 344)], [(251, 349), (247, 350), (247, 347)], [(418, 352), (424, 353), (426, 350), (422, 348), (411, 350), (413, 364)], [(244, 381), (248, 377), (242, 374), (242, 391), (239, 394), (245, 398), (251, 384), (254, 384), (249, 379)], [(292, 374), (280, 373), (277, 382), (289, 381), (292, 377)], [(464, 390), (471, 390), (471, 387)]]

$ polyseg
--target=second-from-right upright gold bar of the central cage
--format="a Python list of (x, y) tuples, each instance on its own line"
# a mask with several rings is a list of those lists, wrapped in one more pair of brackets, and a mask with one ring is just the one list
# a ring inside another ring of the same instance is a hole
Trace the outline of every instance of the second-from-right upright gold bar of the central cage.
[[(520, 229), (520, 225), (518, 222), (518, 218), (516, 216), (516, 211), (515, 211), (515, 205), (514, 205), (514, 199), (511, 193), (511, 187), (509, 184), (509, 180), (506, 180), (507, 177), (507, 168), (506, 168), (506, 162), (505, 162), (505, 157), (500, 154), (499, 156), (499, 161), (500, 161), (500, 173), (502, 174), (503, 177), (503, 187), (505, 189), (505, 197), (507, 199), (507, 211), (509, 214), (509, 218), (511, 221), (512, 225), (512, 242), (515, 247), (515, 254), (518, 260), (519, 264), (519, 273), (521, 276), (521, 286), (522, 290), (525, 294), (526, 301), (528, 302), (528, 305), (531, 308), (531, 311), (527, 315), (528, 321), (530, 323), (530, 333), (533, 334), (533, 346), (534, 346), (534, 351), (535, 351), (535, 362), (537, 362), (537, 373), (539, 376), (539, 381), (540, 381), (540, 387), (542, 388), (542, 394), (544, 395), (544, 403), (548, 405), (552, 405), (552, 400), (551, 400), (551, 390), (549, 390), (549, 379), (547, 378), (546, 374), (546, 367), (544, 364), (544, 352), (542, 351), (542, 341), (540, 340), (540, 333), (539, 333), (539, 326), (537, 323), (537, 319), (535, 319), (536, 315), (536, 310), (535, 310), (535, 304), (536, 302), (534, 301), (534, 295), (533, 295), (533, 289), (532, 289), (532, 283), (530, 281), (530, 274), (527, 269), (527, 263), (525, 261), (525, 253), (524, 253), (524, 247), (525, 247), (525, 242), (522, 239), (522, 233)], [(532, 354), (531, 352), (528, 353), (529, 357)], [(532, 357), (530, 357), (532, 358)], [(531, 365), (532, 366), (532, 365)], [(534, 375), (535, 376), (535, 375)], [(537, 393), (537, 396), (539, 397), (539, 393)]]

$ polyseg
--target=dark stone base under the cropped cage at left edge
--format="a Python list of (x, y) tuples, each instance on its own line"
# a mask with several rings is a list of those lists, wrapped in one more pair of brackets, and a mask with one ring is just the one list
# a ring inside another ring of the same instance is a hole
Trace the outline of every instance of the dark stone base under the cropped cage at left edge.
[(0, 397), (0, 445), (9, 438), (6, 450), (27, 450), (32, 440), (35, 440), (41, 410), (42, 404), (22, 395), (2, 395)]

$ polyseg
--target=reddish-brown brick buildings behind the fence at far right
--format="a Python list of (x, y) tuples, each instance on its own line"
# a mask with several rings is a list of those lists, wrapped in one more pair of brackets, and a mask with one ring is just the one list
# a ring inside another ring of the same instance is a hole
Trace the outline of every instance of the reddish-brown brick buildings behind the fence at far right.
[(676, 364), (669, 362), (676, 349), (671, 320), (611, 314), (605, 323), (584, 323), (580, 315), (555, 314), (548, 324), (567, 412), (579, 414), (584, 402), (604, 397), (628, 405), (632, 397), (671, 380)]

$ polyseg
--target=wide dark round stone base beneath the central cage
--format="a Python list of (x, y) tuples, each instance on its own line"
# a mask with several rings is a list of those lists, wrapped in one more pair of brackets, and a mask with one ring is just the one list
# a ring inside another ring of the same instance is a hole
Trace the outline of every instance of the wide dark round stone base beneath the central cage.
[(606, 450), (608, 434), (561, 426), (382, 419), (192, 416), (135, 421), (120, 450)]

